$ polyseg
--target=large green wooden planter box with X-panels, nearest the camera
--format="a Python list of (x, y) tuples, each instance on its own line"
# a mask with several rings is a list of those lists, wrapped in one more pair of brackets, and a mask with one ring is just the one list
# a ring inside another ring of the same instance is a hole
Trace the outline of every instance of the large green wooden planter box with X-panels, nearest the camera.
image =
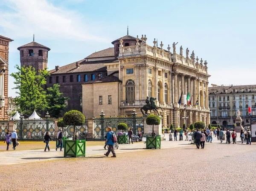
[(85, 157), (85, 140), (65, 140), (64, 157)]

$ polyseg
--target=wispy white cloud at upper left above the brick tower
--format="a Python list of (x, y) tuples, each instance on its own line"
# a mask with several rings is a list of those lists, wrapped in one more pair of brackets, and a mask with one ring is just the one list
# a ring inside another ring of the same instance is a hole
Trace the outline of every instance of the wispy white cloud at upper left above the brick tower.
[(92, 20), (75, 11), (58, 8), (47, 0), (9, 0), (4, 4), (12, 11), (1, 12), (0, 27), (12, 38), (31, 37), (35, 33), (47, 39), (110, 41), (90, 32)]

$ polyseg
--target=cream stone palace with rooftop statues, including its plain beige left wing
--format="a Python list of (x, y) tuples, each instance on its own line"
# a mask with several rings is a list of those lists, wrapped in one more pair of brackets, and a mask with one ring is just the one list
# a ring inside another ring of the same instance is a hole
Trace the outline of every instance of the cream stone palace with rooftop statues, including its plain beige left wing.
[[(171, 53), (169, 45), (165, 50), (162, 42), (157, 47), (155, 40), (154, 46), (146, 41), (146, 37), (126, 35), (112, 42), (116, 59), (104, 63), (108, 76), (82, 84), (84, 115), (99, 116), (102, 110), (106, 116), (131, 115), (134, 108), (141, 114), (148, 96), (156, 97), (157, 105), (163, 109), (158, 109), (163, 127), (171, 123), (182, 126), (185, 113), (187, 126), (199, 120), (209, 124), (207, 62), (198, 62), (194, 51), (189, 58), (188, 48), (184, 57), (182, 46), (177, 54), (177, 43), (173, 43)], [(192, 104), (183, 98), (179, 104), (181, 94), (190, 94)]]

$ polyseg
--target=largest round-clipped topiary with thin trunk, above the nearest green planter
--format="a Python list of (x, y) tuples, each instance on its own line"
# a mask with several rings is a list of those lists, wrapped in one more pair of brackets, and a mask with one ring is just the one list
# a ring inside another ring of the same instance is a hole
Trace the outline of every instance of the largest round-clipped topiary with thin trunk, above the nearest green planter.
[(71, 110), (64, 114), (63, 116), (63, 122), (66, 125), (72, 125), (74, 128), (73, 131), (73, 140), (75, 140), (76, 135), (76, 126), (83, 125), (85, 122), (84, 115), (77, 110)]

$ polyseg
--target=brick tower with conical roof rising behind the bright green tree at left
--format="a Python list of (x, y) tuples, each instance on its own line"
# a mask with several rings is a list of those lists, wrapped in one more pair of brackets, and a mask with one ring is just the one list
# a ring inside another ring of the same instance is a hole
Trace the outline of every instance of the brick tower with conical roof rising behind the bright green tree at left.
[(36, 71), (47, 68), (50, 48), (35, 41), (17, 48), (20, 51), (20, 66), (32, 66)]

